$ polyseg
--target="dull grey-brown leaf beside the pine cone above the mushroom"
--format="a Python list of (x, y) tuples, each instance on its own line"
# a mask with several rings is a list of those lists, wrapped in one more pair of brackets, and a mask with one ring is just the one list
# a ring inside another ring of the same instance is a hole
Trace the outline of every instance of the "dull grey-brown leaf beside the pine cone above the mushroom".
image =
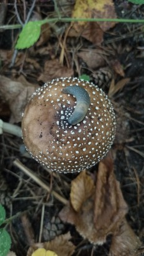
[(78, 57), (82, 58), (89, 68), (96, 69), (100, 66), (104, 66), (105, 60), (102, 56), (102, 52), (99, 53), (94, 49), (83, 50), (78, 53)]

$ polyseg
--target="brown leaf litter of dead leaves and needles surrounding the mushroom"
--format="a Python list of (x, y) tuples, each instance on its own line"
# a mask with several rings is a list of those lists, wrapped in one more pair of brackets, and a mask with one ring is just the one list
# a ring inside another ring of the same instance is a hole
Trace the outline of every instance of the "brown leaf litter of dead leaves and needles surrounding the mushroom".
[[(16, 14), (13, 2), (11, 8)], [(10, 17), (11, 8), (7, 6)], [(130, 3), (111, 0), (61, 1), (58, 8), (61, 17), (88, 18), (122, 18), (124, 11), (126, 17), (134, 13), (138, 19), (144, 11), (143, 6), (135, 10)], [(22, 10), (18, 6), (23, 17)], [(42, 17), (56, 15), (53, 4), (45, 1), (37, 1), (35, 12)], [(2, 22), (9, 24), (9, 16)], [(7, 217), (15, 216), (7, 229), (11, 250), (18, 256), (31, 255), (38, 248), (64, 256), (143, 255), (142, 26), (72, 22), (69, 27), (58, 22), (42, 29), (35, 45), (18, 52), (12, 68), (13, 34), (2, 32), (1, 118), (19, 123), (36, 88), (53, 78), (86, 75), (109, 94), (117, 116), (117, 134), (111, 150), (113, 161), (107, 157), (91, 170), (75, 175), (51, 173), (20, 153), (20, 138), (1, 135), (0, 199)], [(6, 48), (7, 36), (11, 46)], [(37, 181), (13, 164), (16, 158), (22, 167), (37, 174)], [(11, 196), (6, 203), (8, 193)]]

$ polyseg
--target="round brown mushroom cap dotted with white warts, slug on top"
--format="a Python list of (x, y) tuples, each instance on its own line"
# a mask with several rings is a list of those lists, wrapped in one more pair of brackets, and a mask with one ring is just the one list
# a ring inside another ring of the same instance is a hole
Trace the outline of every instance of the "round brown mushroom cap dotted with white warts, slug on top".
[(93, 83), (58, 78), (32, 95), (25, 107), (22, 135), (30, 155), (50, 170), (81, 171), (110, 149), (115, 137), (114, 109)]

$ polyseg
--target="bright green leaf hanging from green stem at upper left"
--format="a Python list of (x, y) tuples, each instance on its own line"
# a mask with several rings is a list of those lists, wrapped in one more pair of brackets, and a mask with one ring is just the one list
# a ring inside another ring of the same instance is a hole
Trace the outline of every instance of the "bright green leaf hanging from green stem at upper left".
[(30, 21), (22, 29), (16, 43), (16, 49), (29, 48), (37, 42), (40, 37), (41, 21)]

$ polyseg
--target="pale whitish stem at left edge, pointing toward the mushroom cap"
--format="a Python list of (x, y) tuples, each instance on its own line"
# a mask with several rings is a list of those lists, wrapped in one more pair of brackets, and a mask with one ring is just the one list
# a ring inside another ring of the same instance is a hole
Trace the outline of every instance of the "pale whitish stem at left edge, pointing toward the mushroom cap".
[(9, 122), (3, 122), (0, 119), (0, 134), (3, 132), (7, 132), (9, 134), (16, 135), (17, 137), (22, 137), (22, 130), (19, 126), (16, 126), (14, 124), (9, 124)]

